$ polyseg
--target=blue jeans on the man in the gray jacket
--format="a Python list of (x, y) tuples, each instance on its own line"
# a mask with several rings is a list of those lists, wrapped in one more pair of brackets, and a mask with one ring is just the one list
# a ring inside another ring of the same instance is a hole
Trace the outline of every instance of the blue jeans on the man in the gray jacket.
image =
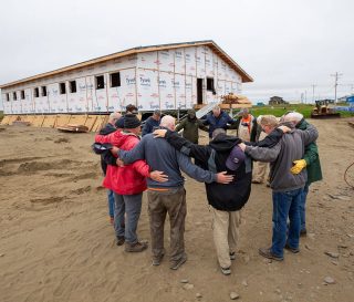
[(271, 252), (283, 257), (283, 249), (287, 243), (287, 220), (290, 226), (288, 233), (289, 247), (299, 248), (300, 238), (300, 201), (303, 188), (274, 192), (273, 191), (273, 237)]

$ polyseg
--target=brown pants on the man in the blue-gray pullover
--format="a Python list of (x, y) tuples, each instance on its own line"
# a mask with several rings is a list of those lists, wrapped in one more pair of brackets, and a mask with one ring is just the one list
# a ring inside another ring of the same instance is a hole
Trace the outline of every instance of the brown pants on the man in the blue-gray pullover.
[(168, 212), (170, 222), (170, 260), (177, 261), (185, 253), (185, 219), (187, 215), (185, 188), (168, 191), (147, 191), (150, 220), (152, 252), (154, 258), (164, 254), (164, 226)]

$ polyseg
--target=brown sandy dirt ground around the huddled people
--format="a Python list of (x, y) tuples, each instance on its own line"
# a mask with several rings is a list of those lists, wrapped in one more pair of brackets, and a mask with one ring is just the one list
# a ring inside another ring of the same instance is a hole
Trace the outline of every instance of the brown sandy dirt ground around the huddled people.
[[(354, 129), (345, 119), (312, 123), (324, 180), (310, 187), (301, 252), (285, 251), (283, 262), (258, 254), (271, 242), (272, 204), (271, 190), (253, 185), (230, 277), (219, 271), (204, 184), (186, 181), (188, 261), (171, 271), (167, 254), (153, 267), (149, 250), (132, 254), (115, 244), (100, 158), (90, 149), (94, 134), (2, 127), (0, 301), (222, 302), (231, 292), (243, 302), (354, 301), (354, 190), (343, 180)], [(348, 178), (354, 185), (354, 168)], [(149, 240), (146, 201), (144, 194), (138, 235)]]

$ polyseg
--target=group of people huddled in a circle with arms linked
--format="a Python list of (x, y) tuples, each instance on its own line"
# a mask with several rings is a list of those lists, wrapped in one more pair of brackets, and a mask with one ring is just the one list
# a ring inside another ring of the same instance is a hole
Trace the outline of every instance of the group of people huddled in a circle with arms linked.
[[(196, 117), (195, 111), (188, 111), (187, 117), (176, 127), (173, 116), (162, 117), (162, 113), (155, 111), (145, 123), (142, 138), (140, 121), (134, 110), (127, 110), (123, 117), (111, 114), (108, 124), (115, 126), (104, 127), (95, 143), (112, 145), (102, 154), (103, 184), (108, 189), (110, 216), (117, 244), (125, 244), (126, 252), (147, 248), (146, 240), (137, 236), (142, 196), (147, 190), (153, 265), (159, 265), (165, 256), (167, 214), (170, 269), (176, 270), (186, 262), (184, 171), (206, 184), (218, 262), (221, 272), (230, 274), (237, 252), (240, 210), (251, 192), (253, 160), (270, 163), (273, 199), (272, 244), (259, 249), (259, 253), (281, 261), (283, 249), (299, 252), (300, 235), (306, 233), (309, 186), (322, 178), (315, 145), (317, 131), (301, 114), (288, 113), (279, 122), (272, 115), (256, 118), (244, 108), (233, 119), (215, 106), (204, 121)], [(238, 135), (227, 135), (229, 128), (237, 129)], [(208, 145), (198, 145), (198, 129), (209, 133)], [(264, 135), (260, 136), (261, 133)], [(190, 157), (195, 158), (195, 164)]]

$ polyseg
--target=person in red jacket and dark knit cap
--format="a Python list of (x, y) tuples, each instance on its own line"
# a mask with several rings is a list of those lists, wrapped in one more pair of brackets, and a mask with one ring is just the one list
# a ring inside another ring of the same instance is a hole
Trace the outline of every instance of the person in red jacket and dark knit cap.
[[(111, 136), (117, 146), (129, 150), (138, 144), (139, 133), (140, 121), (134, 114), (127, 114), (124, 117), (124, 131), (115, 132)], [(96, 142), (104, 143), (101, 135), (96, 136)], [(140, 242), (136, 235), (142, 197), (146, 190), (146, 177), (164, 181), (162, 176), (163, 173), (150, 171), (145, 160), (137, 160), (123, 167), (107, 167), (103, 186), (114, 191), (117, 244), (122, 246), (125, 242), (126, 252), (139, 252), (147, 248), (147, 243)]]

